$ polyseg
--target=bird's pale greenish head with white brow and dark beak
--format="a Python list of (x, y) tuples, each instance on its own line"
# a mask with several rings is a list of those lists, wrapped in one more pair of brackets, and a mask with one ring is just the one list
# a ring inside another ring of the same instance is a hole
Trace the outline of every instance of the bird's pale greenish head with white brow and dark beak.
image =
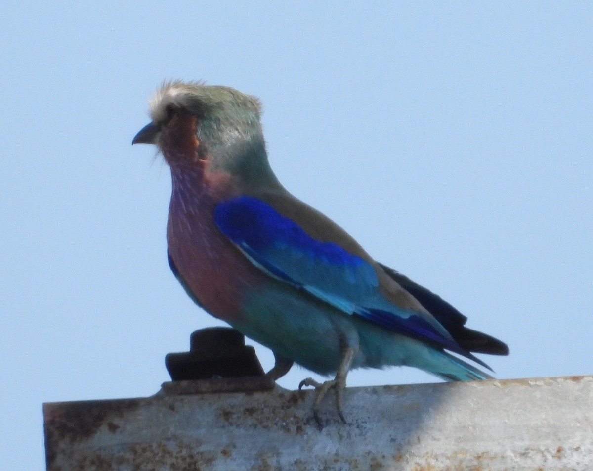
[(257, 98), (231, 87), (170, 81), (150, 101), (152, 121), (132, 144), (154, 144), (172, 167), (202, 164), (261, 178), (271, 172), (261, 109)]

